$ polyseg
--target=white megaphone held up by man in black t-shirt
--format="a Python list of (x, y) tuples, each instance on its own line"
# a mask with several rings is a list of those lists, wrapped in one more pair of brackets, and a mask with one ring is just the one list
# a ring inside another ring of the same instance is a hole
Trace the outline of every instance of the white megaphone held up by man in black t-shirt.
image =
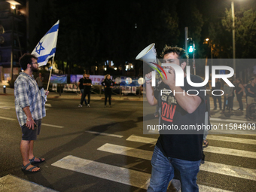
[[(163, 68), (161, 67), (161, 62), (157, 59), (157, 51), (154, 48), (154, 43), (148, 45), (148, 47), (145, 47), (144, 50), (142, 50), (137, 56), (136, 60), (141, 60), (143, 62), (146, 62), (149, 66), (151, 66), (152, 69), (154, 69), (154, 72), (157, 71), (157, 78), (160, 78), (160, 71), (161, 69), (163, 71)], [(145, 80), (148, 81), (150, 79), (145, 77)], [(152, 81), (155, 81), (154, 79)]]

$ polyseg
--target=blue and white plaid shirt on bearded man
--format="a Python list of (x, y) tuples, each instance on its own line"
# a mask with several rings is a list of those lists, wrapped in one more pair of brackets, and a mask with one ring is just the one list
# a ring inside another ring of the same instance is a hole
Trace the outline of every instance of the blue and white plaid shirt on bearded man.
[(38, 89), (35, 78), (21, 72), (14, 83), (15, 109), (20, 126), (26, 123), (23, 108), (29, 106), (32, 118), (39, 120), (45, 117), (44, 96)]

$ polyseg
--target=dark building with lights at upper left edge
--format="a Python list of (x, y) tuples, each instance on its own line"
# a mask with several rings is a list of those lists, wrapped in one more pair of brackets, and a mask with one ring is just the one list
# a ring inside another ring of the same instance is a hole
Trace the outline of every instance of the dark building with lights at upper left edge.
[(18, 61), (26, 53), (26, 1), (0, 1), (0, 25), (0, 81), (10, 81), (19, 74)]

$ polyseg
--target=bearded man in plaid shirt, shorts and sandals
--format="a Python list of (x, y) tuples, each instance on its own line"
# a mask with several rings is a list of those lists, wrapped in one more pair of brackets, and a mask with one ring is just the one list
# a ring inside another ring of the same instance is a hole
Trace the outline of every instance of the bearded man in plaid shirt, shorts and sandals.
[(45, 117), (44, 98), (48, 91), (39, 90), (33, 72), (38, 72), (37, 58), (29, 53), (20, 57), (20, 67), (24, 70), (14, 83), (15, 109), (22, 128), (20, 151), (23, 157), (23, 171), (38, 172), (34, 163), (44, 162), (44, 158), (33, 154), (34, 141), (41, 130), (41, 119)]

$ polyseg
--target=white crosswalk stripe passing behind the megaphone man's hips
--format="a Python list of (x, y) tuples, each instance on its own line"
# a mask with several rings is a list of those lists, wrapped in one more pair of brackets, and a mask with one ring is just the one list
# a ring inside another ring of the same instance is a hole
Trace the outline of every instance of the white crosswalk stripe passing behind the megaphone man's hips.
[[(153, 154), (152, 151), (145, 151), (138, 148), (129, 148), (109, 143), (102, 145), (98, 148), (98, 150), (112, 154), (121, 154), (129, 157), (136, 157), (144, 160), (151, 160)], [(248, 169), (238, 166), (228, 166), (221, 163), (205, 162), (200, 166), (200, 170), (256, 181), (256, 170), (254, 169)]]

